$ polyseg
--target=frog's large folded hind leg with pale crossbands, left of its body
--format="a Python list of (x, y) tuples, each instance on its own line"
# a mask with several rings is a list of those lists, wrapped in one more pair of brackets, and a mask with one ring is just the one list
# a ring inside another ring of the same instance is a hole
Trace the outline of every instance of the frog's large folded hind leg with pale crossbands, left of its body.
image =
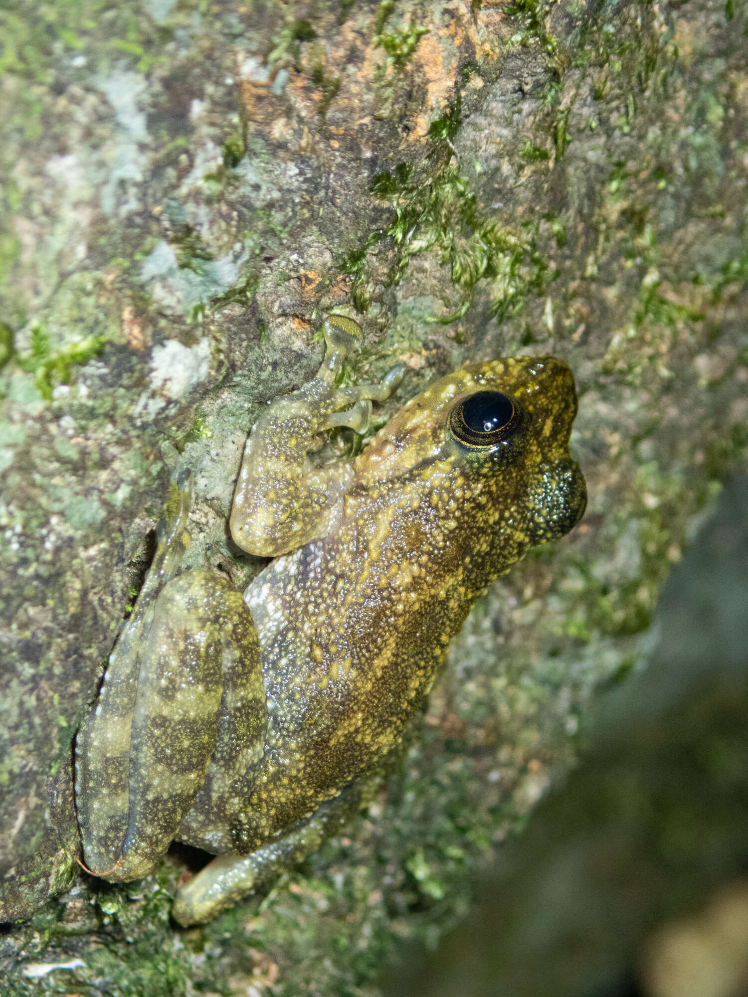
[[(221, 728), (236, 722), (231, 691), (242, 679), (250, 689), (256, 686), (256, 637), (237, 648), (236, 631), (254, 634), (240, 593), (221, 575), (189, 572), (159, 596), (138, 649), (135, 678), (125, 688), (118, 685), (113, 657), (79, 736), (79, 825), (85, 860), (95, 873), (112, 880), (145, 875), (175, 837), (203, 784)], [(225, 699), (228, 710), (221, 718)], [(254, 718), (248, 726), (256, 734), (254, 697), (238, 700), (238, 713), (248, 706)], [(264, 716), (260, 720), (263, 738)], [(244, 731), (239, 741), (245, 740)]]

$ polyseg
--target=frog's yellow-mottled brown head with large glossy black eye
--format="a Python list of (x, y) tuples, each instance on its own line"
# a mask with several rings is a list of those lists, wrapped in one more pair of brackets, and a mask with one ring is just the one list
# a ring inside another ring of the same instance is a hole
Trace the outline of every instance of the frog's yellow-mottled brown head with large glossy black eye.
[(411, 399), (357, 459), (357, 478), (418, 482), (432, 504), (464, 509), (474, 535), (502, 534), (519, 551), (584, 511), (568, 450), (575, 415), (573, 375), (556, 357), (472, 364)]

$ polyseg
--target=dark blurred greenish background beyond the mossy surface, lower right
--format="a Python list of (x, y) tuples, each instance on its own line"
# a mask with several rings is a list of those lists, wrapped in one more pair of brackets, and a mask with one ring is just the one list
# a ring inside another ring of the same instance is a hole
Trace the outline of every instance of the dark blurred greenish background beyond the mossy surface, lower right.
[(600, 697), (578, 769), (387, 994), (648, 997), (631, 967), (650, 933), (748, 868), (748, 478), (673, 571), (655, 626), (648, 669)]

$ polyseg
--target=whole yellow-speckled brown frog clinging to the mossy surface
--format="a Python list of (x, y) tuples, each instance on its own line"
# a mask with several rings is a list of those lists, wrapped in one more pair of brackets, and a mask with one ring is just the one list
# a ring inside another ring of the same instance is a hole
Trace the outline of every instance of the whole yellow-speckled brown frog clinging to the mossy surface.
[(212, 858), (173, 915), (212, 918), (339, 830), (375, 791), (477, 598), (579, 520), (569, 453), (574, 379), (553, 356), (467, 364), (406, 402), (359, 454), (399, 387), (339, 385), (360, 326), (331, 315), (317, 374), (249, 432), (228, 525), (271, 558), (241, 593), (180, 572), (189, 473), (173, 483), (154, 561), (78, 732), (75, 795), (93, 874), (145, 876), (173, 840)]

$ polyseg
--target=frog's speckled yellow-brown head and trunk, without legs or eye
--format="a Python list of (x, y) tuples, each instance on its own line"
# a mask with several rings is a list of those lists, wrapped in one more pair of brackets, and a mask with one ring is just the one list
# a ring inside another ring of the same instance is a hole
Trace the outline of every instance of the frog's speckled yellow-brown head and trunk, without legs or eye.
[[(455, 407), (481, 391), (506, 392), (522, 414), (498, 449), (456, 435)], [(437, 382), (364, 451), (335, 531), (249, 586), (269, 726), (236, 850), (311, 813), (396, 747), (475, 598), (528, 546), (573, 525), (584, 505), (568, 457), (574, 412), (570, 372), (553, 358)]]

